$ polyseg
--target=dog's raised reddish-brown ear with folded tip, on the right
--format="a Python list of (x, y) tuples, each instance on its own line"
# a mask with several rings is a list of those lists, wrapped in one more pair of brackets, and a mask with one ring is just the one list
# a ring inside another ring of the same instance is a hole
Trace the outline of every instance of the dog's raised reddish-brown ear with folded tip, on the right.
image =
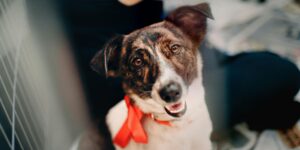
[(165, 20), (173, 23), (199, 44), (206, 33), (206, 18), (214, 19), (209, 4), (183, 6), (172, 11)]

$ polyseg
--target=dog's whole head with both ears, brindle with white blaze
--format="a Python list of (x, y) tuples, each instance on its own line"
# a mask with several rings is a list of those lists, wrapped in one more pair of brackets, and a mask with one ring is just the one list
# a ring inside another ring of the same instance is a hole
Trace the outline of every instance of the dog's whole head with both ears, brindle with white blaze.
[(184, 6), (159, 23), (117, 36), (91, 61), (106, 76), (119, 76), (123, 88), (146, 113), (181, 117), (185, 96), (198, 76), (197, 48), (206, 33), (208, 4)]

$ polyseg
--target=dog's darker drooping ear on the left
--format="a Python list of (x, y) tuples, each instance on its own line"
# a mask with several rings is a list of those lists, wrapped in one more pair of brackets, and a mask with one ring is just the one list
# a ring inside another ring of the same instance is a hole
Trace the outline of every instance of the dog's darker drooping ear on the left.
[(119, 74), (120, 55), (124, 36), (111, 39), (91, 60), (91, 68), (100, 75), (116, 77)]

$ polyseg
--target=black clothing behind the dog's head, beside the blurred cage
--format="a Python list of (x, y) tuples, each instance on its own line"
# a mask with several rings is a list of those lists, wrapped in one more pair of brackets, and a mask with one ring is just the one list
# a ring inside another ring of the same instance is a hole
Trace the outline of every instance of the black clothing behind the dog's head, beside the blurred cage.
[(80, 68), (91, 114), (103, 118), (124, 94), (119, 79), (106, 79), (91, 70), (92, 57), (116, 34), (159, 22), (162, 2), (143, 1), (132, 7), (117, 0), (59, 0), (57, 4)]

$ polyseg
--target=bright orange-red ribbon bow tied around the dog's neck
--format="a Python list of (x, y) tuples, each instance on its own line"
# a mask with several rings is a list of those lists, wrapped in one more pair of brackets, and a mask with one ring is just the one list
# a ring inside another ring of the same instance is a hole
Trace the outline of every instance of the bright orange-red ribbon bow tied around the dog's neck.
[[(128, 96), (125, 96), (124, 99), (128, 108), (128, 114), (126, 121), (114, 138), (114, 143), (124, 148), (132, 138), (137, 143), (146, 144), (148, 142), (148, 137), (142, 126), (141, 120), (144, 116), (153, 117), (150, 114), (144, 114), (137, 106), (132, 105)], [(168, 121), (155, 121), (159, 124), (171, 126)]]

